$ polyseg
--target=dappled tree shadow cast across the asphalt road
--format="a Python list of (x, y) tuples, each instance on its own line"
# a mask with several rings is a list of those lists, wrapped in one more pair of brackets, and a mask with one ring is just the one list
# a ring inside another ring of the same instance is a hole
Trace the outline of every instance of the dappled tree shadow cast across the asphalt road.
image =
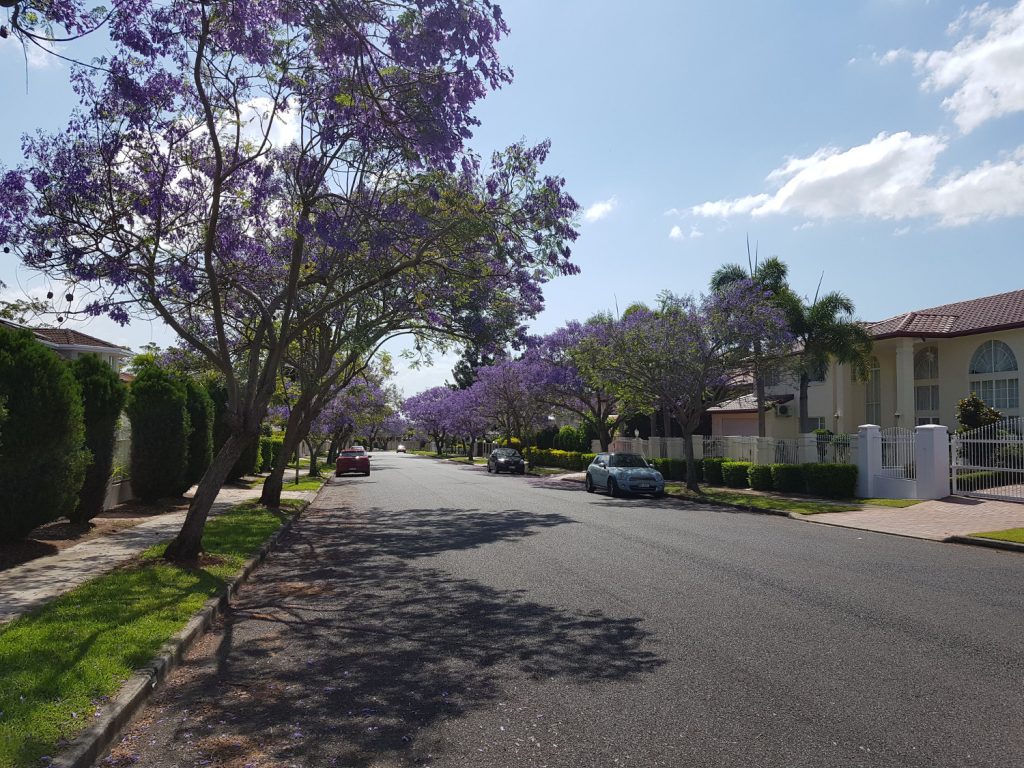
[(417, 562), (567, 522), (310, 511), (106, 764), (432, 764), (424, 729), (495, 707), (517, 684), (653, 672), (664, 662), (638, 618), (541, 604)]

